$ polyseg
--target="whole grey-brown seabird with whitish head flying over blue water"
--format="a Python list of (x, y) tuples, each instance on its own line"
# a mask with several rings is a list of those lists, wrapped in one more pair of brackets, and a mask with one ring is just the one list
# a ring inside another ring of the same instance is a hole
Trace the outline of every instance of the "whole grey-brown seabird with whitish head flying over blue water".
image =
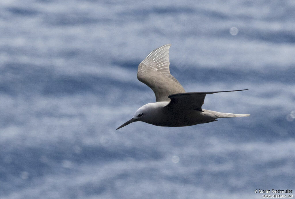
[[(135, 121), (156, 126), (191, 126), (217, 121), (218, 118), (250, 116), (250, 114), (220, 113), (202, 109), (206, 94), (232, 91), (186, 93), (182, 85), (170, 74), (170, 46), (171, 44), (167, 44), (153, 50), (138, 65), (137, 78), (154, 91), (156, 102), (137, 109), (132, 119), (117, 129)], [(245, 90), (248, 89), (235, 91)]]

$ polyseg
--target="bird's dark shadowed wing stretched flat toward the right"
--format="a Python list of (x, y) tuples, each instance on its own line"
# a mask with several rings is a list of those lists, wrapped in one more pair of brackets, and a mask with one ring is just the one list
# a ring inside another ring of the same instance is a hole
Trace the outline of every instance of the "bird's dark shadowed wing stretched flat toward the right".
[[(243, 90), (235, 90), (235, 91), (245, 91)], [(214, 91), (214, 92), (191, 92), (191, 93), (177, 93), (173, 95), (169, 95), (168, 98), (171, 101), (165, 106), (165, 108), (169, 108), (173, 111), (181, 111), (181, 110), (189, 110), (195, 109), (198, 111), (202, 111), (202, 105), (204, 104), (204, 99), (206, 94), (213, 93), (222, 93), (222, 92), (233, 92), (233, 91)]]

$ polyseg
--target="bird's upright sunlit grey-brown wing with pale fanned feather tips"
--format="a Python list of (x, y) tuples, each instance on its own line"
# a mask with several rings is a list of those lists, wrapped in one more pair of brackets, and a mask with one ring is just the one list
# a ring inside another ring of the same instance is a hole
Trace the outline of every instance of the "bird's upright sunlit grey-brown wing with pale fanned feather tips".
[(161, 46), (138, 65), (137, 79), (150, 87), (156, 96), (156, 102), (170, 101), (169, 95), (184, 93), (182, 85), (169, 70), (169, 48), (171, 44)]

